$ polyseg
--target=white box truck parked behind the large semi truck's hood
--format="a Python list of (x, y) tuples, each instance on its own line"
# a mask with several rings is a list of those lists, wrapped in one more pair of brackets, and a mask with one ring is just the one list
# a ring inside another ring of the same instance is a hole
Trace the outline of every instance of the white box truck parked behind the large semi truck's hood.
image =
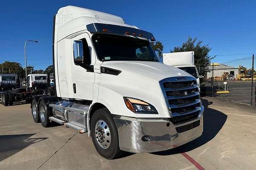
[(163, 63), (179, 68), (194, 76), (200, 91), (199, 74), (194, 62), (194, 51), (163, 53)]

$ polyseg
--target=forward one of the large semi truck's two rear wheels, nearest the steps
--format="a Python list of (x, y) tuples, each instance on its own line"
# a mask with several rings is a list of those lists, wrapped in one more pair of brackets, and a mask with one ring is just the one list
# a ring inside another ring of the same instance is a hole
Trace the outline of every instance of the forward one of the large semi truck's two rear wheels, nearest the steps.
[(49, 115), (49, 107), (46, 105), (44, 100), (41, 100), (39, 103), (39, 108), (38, 108), (38, 115), (40, 117), (40, 121), (43, 127), (49, 127), (51, 125), (50, 122), (50, 115)]

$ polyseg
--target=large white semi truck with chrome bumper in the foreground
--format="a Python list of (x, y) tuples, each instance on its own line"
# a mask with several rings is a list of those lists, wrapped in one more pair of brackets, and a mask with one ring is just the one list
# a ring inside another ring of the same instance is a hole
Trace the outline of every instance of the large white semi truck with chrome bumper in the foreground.
[(53, 24), (56, 96), (33, 96), (32, 117), (88, 132), (97, 152), (168, 150), (203, 132), (195, 77), (160, 63), (153, 34), (121, 17), (66, 6)]

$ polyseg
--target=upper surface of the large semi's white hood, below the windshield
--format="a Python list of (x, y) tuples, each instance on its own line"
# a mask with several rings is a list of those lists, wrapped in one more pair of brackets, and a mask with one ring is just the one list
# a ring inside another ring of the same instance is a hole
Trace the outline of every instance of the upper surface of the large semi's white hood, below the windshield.
[(190, 76), (190, 74), (161, 62), (145, 61), (108, 61), (102, 63), (103, 67), (113, 68), (124, 72), (134, 72), (157, 79), (158, 81), (168, 77)]

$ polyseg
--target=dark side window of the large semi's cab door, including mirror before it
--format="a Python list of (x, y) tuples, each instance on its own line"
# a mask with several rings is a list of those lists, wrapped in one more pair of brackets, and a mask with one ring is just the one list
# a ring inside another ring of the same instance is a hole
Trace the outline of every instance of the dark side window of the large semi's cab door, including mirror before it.
[(73, 58), (76, 65), (90, 65), (90, 49), (85, 38), (73, 41)]

